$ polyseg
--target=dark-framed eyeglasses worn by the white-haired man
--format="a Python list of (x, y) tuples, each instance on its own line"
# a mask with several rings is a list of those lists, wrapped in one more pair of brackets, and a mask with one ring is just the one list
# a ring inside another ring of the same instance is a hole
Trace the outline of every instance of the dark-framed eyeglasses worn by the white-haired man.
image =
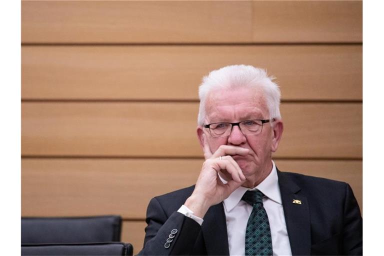
[(275, 119), (254, 119), (245, 120), (241, 122), (214, 122), (204, 124), (204, 128), (209, 128), (210, 135), (215, 138), (229, 136), (232, 127), (237, 125), (242, 134), (256, 135), (261, 132), (262, 124), (266, 122), (273, 122)]

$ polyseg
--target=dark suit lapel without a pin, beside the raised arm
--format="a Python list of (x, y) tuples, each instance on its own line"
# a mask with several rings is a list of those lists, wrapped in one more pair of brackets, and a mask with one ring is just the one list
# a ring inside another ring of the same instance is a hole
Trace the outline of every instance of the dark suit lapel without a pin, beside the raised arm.
[(208, 209), (201, 230), (207, 255), (229, 255), (228, 235), (222, 202)]

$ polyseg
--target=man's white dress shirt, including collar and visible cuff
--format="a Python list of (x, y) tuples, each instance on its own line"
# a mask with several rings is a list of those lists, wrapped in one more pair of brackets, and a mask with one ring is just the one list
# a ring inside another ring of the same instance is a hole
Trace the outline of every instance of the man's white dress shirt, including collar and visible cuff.
[[(221, 177), (220, 179), (226, 183)], [(273, 255), (292, 255), (281, 204), (276, 166), (273, 161), (271, 172), (260, 184), (252, 189), (240, 186), (223, 201), (229, 255), (245, 254), (245, 230), (252, 206), (241, 200), (241, 197), (246, 190), (255, 189), (260, 190), (265, 195), (262, 202), (268, 215)], [(193, 212), (185, 205), (181, 206), (178, 211), (196, 220), (201, 225), (202, 219), (194, 216)]]

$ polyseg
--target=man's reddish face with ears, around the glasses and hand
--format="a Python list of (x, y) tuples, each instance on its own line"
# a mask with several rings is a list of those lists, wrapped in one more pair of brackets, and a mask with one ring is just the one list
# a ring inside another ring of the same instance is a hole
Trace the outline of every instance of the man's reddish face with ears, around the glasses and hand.
[[(205, 104), (205, 113), (204, 124), (269, 119), (269, 111), (262, 90), (251, 88), (210, 92)], [(220, 145), (248, 148), (248, 155), (232, 157), (245, 177), (249, 181), (255, 181), (255, 177), (265, 178), (272, 167), (271, 152), (277, 149), (282, 133), (282, 122), (275, 121), (273, 124), (274, 128), (270, 123), (264, 123), (261, 132), (256, 135), (244, 135), (238, 126), (233, 126), (231, 133), (226, 137), (214, 138), (210, 135), (208, 128), (201, 126), (197, 127), (197, 134), (202, 145), (202, 133), (206, 135), (211, 152), (215, 152)]]

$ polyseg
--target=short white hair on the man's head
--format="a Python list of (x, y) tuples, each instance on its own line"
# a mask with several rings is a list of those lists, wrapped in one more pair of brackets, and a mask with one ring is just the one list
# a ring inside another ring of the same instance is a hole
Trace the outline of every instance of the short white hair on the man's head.
[(197, 124), (203, 125), (205, 119), (205, 101), (209, 92), (217, 89), (230, 88), (260, 88), (264, 92), (266, 105), (269, 110), (269, 119), (281, 119), (280, 115), (280, 89), (273, 82), (273, 76), (268, 76), (262, 68), (251, 65), (230, 65), (209, 72), (202, 78), (198, 88), (200, 106)]

